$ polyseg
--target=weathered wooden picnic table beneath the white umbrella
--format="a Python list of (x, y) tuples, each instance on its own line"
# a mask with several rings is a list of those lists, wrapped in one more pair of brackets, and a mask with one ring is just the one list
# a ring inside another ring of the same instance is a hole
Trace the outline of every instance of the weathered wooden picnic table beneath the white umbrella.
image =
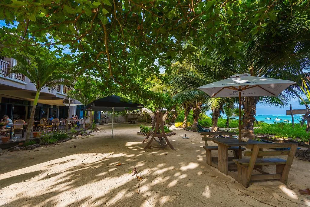
[[(218, 144), (218, 163), (217, 168), (220, 172), (224, 174), (228, 174), (229, 165), (235, 165), (234, 163), (229, 164), (228, 159), (228, 148), (230, 147), (241, 147), (241, 146), (254, 146), (258, 143), (263, 143), (260, 141), (249, 139), (247, 142), (241, 141), (239, 142), (239, 139), (236, 138), (211, 138), (212, 142)], [(242, 150), (236, 150), (236, 156), (235, 158), (242, 158)]]

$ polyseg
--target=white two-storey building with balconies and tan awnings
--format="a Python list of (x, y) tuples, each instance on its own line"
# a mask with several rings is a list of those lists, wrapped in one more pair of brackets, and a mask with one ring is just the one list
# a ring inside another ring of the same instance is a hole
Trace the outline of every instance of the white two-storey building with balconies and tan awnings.
[[(13, 58), (0, 57), (0, 117), (8, 115), (13, 119), (27, 120), (30, 118), (36, 88), (29, 78), (21, 74), (7, 75), (7, 68), (17, 64)], [(36, 107), (35, 120), (52, 115), (54, 118), (67, 118), (68, 106), (63, 104), (66, 93), (72, 90), (70, 86), (57, 85), (49, 92), (41, 90)], [(82, 118), (82, 106), (70, 107), (70, 116), (77, 114)]]

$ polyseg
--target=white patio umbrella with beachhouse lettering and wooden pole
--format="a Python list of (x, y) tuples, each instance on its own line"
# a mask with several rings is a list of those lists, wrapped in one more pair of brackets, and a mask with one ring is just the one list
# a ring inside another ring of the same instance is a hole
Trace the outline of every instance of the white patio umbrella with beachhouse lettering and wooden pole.
[(239, 96), (239, 141), (241, 141), (241, 96), (278, 96), (284, 89), (294, 83), (294, 81), (255, 77), (249, 73), (243, 73), (200, 86), (198, 89), (212, 98)]

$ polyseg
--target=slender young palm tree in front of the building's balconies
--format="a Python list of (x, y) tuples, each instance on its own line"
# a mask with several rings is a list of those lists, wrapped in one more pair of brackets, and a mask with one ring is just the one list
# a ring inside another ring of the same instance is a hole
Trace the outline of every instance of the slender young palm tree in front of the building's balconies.
[(46, 56), (35, 56), (33, 58), (27, 58), (24, 55), (17, 54), (13, 56), (18, 61), (18, 64), (9, 68), (8, 74), (20, 73), (29, 80), (36, 87), (36, 95), (33, 100), (33, 107), (30, 114), (30, 122), (27, 128), (27, 135), (25, 142), (29, 142), (30, 134), (33, 126), (33, 118), (38, 104), (40, 91), (43, 88), (48, 88), (49, 91), (54, 90), (56, 85), (70, 85), (71, 75), (64, 73), (62, 65), (59, 59), (47, 54)]

